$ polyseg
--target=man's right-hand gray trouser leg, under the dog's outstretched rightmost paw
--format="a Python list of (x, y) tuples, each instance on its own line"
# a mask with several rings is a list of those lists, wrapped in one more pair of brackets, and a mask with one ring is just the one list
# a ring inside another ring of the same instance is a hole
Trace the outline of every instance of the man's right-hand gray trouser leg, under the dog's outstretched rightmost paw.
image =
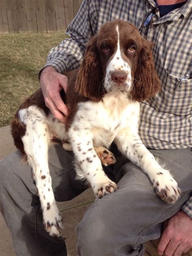
[(188, 199), (191, 190), (190, 150), (150, 151), (161, 164), (166, 163), (166, 168), (171, 170), (179, 183), (183, 191), (179, 200), (174, 205), (162, 201), (141, 169), (131, 162), (125, 163), (125, 159), (121, 167), (117, 162), (115, 176), (117, 179), (122, 177), (118, 182), (119, 189), (114, 194), (97, 199), (86, 211), (77, 226), (79, 253), (94, 256), (116, 252), (114, 255), (124, 255), (126, 250), (130, 250), (127, 245), (136, 249), (145, 241), (159, 238), (162, 222), (179, 211)]

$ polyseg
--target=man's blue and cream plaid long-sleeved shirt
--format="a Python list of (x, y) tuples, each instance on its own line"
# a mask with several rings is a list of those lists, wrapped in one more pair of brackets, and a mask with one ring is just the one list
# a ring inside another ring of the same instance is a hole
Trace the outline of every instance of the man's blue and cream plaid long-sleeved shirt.
[[(154, 0), (84, 0), (67, 28), (70, 38), (51, 49), (45, 66), (60, 73), (77, 68), (87, 41), (104, 23), (123, 19), (139, 29), (155, 6)], [(191, 9), (188, 0), (161, 18), (156, 13), (149, 28), (141, 31), (154, 42), (154, 62), (162, 82), (161, 92), (141, 102), (139, 134), (149, 148), (192, 147)]]

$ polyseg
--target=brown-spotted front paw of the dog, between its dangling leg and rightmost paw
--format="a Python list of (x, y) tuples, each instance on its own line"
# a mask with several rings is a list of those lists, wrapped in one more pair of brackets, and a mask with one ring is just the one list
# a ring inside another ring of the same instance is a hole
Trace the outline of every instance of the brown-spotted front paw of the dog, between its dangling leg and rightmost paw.
[(97, 198), (102, 198), (103, 196), (113, 193), (117, 190), (117, 185), (113, 181), (107, 183), (100, 183), (94, 188), (94, 193)]

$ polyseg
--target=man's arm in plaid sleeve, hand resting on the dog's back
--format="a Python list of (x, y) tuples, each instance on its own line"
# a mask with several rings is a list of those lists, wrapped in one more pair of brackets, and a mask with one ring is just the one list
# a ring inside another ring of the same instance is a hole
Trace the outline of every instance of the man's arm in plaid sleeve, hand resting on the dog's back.
[(65, 121), (64, 115), (67, 115), (67, 107), (60, 97), (60, 90), (63, 88), (66, 91), (67, 87), (67, 78), (62, 73), (79, 66), (87, 41), (97, 30), (98, 10), (98, 0), (83, 1), (78, 14), (66, 30), (70, 38), (51, 49), (47, 64), (39, 72), (45, 104), (61, 122)]

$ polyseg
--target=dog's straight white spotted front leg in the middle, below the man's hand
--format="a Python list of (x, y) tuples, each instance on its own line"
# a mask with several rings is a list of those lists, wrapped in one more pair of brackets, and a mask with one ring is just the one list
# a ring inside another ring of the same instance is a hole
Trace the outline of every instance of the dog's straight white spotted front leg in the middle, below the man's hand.
[(117, 185), (103, 171), (101, 161), (94, 150), (90, 132), (72, 126), (68, 134), (76, 158), (77, 177), (87, 179), (97, 198), (117, 190)]

